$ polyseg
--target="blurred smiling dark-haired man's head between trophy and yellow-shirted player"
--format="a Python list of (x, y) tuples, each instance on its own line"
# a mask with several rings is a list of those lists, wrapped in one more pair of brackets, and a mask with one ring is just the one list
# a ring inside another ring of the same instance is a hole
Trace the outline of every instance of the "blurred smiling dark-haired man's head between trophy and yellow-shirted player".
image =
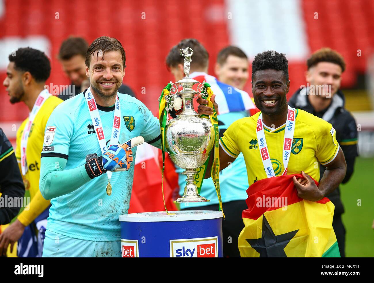
[(243, 50), (227, 46), (218, 52), (214, 72), (219, 81), (243, 90), (249, 77), (248, 64), (248, 57)]

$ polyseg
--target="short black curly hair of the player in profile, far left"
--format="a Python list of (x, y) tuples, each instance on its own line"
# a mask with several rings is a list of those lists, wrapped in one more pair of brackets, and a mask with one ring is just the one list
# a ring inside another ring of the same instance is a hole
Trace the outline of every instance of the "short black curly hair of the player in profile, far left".
[(9, 55), (9, 61), (14, 62), (17, 71), (30, 72), (38, 83), (45, 82), (50, 75), (50, 62), (44, 52), (31, 48), (18, 48)]

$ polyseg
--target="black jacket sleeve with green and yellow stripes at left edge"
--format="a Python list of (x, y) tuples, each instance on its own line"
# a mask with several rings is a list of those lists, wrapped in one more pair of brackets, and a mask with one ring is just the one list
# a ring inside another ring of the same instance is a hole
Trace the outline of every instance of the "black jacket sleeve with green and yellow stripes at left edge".
[[(8, 224), (21, 207), (15, 207), (16, 198), (25, 196), (25, 186), (17, 164), (12, 144), (0, 128), (0, 225)], [(9, 200), (13, 200), (9, 202)], [(1, 233), (1, 228), (0, 228)], [(2, 253), (0, 253), (1, 255)]]

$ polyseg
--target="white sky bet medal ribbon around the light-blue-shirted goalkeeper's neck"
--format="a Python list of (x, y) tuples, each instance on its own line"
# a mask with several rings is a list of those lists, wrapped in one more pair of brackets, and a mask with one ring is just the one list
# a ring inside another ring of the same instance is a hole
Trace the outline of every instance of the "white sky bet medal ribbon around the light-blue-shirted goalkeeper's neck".
[[(85, 98), (86, 98), (86, 102), (87, 102), (87, 106), (88, 106), (88, 111), (89, 111), (90, 116), (91, 116), (91, 121), (92, 121), (93, 127), (95, 128), (96, 138), (97, 138), (97, 140), (99, 142), (99, 145), (100, 145), (101, 153), (104, 154), (104, 152), (107, 151), (107, 143), (106, 143), (106, 139), (105, 139), (105, 135), (104, 135), (104, 129), (102, 127), (102, 122), (101, 122), (101, 119), (100, 119), (99, 110), (97, 109), (95, 98), (92, 95), (91, 87), (89, 87), (89, 89), (86, 91)], [(112, 134), (111, 134), (111, 137), (110, 137), (110, 144), (109, 144), (108, 147), (110, 147), (111, 145), (118, 144), (119, 133), (120, 133), (120, 128), (121, 128), (120, 117), (121, 117), (121, 108), (120, 108), (120, 105), (119, 105), (119, 97), (117, 95), (116, 104), (114, 106), (114, 118), (113, 118)], [(107, 176), (108, 176), (108, 181), (110, 182), (110, 178), (111, 178), (113, 172), (106, 171), (106, 173), (107, 173)]]

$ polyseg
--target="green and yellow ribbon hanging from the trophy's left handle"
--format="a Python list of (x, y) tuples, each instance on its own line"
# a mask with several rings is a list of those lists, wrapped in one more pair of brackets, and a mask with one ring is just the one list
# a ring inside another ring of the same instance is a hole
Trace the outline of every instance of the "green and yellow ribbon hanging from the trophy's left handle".
[(164, 202), (165, 210), (167, 214), (175, 214), (169, 213), (168, 209), (166, 208), (165, 203), (165, 196), (163, 193), (163, 172), (165, 170), (165, 127), (166, 127), (166, 119), (168, 118), (168, 112), (166, 111), (166, 99), (165, 96), (170, 95), (170, 88), (171, 83), (168, 83), (167, 86), (164, 87), (160, 96), (160, 106), (159, 106), (159, 120), (160, 120), (160, 133), (161, 133), (161, 151), (162, 151), (162, 179), (161, 179), (161, 189), (162, 189), (162, 199)]

